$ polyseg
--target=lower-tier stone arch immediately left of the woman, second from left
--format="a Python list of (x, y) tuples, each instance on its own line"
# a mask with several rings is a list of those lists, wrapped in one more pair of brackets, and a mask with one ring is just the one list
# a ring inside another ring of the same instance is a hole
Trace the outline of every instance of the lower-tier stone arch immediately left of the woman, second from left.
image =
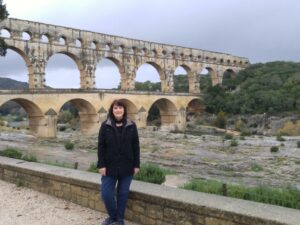
[(58, 111), (60, 111), (62, 107), (68, 102), (70, 102), (78, 110), (81, 133), (96, 133), (98, 131), (99, 119), (94, 106), (87, 100), (81, 98), (74, 98), (64, 102), (59, 107)]

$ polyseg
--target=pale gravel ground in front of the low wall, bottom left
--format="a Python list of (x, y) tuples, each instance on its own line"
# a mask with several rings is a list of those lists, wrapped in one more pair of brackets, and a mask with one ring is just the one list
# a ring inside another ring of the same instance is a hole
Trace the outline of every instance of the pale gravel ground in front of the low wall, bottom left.
[(0, 225), (97, 225), (106, 217), (104, 213), (0, 180)]

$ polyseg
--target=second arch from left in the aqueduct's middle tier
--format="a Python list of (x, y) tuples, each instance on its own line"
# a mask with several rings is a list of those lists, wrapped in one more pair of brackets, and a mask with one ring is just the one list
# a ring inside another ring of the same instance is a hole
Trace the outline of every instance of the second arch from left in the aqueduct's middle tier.
[[(79, 81), (80, 84), (78, 84), (78, 87), (81, 87), (82, 83), (84, 82), (84, 76), (85, 76), (85, 68), (82, 64), (82, 61), (80, 60), (80, 58), (78, 56), (76, 56), (75, 54), (71, 53), (71, 52), (67, 52), (67, 51), (57, 51), (57, 52), (53, 52), (51, 55), (48, 56), (47, 58), (47, 62), (45, 65), (45, 72), (47, 69), (47, 65), (49, 63), (49, 60), (51, 59), (51, 57), (57, 55), (57, 54), (62, 54), (64, 56), (69, 57), (73, 62), (75, 62), (75, 65), (77, 66), (77, 69), (79, 70)], [(49, 74), (48, 74), (49, 75)], [(45, 84), (47, 84), (47, 73), (45, 74)]]

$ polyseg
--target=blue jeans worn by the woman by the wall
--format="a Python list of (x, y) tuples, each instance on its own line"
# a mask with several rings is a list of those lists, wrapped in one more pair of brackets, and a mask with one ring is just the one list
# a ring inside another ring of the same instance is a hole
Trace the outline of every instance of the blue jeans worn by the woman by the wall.
[[(133, 176), (115, 178), (102, 176), (101, 178), (101, 197), (109, 217), (113, 220), (124, 220), (132, 177)], [(116, 184), (117, 193), (115, 194)]]

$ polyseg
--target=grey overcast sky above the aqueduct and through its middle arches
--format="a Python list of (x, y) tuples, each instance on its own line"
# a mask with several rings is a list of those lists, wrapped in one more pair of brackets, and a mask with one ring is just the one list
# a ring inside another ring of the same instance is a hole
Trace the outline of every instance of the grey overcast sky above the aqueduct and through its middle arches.
[[(18, 19), (224, 52), (247, 57), (251, 63), (300, 61), (299, 0), (27, 0), (22, 6), (20, 0), (4, 3), (10, 17)], [(102, 83), (98, 87), (106, 87), (105, 74), (113, 69), (116, 70), (107, 62), (98, 65), (97, 83)], [(59, 80), (62, 76), (55, 75), (58, 70), (66, 74), (64, 77), (72, 76), (74, 82), (77, 79), (78, 86), (75, 63), (59, 55), (50, 58), (47, 65), (47, 85), (60, 87), (58, 83), (63, 81)], [(153, 68), (145, 66), (141, 71), (138, 80), (159, 81), (157, 75), (149, 78), (151, 71), (156, 73)], [(27, 79), (24, 62), (12, 51), (6, 59), (0, 58), (0, 75), (8, 73), (11, 78)], [(115, 75), (115, 81), (107, 82), (117, 84), (118, 79), (119, 75)]]

